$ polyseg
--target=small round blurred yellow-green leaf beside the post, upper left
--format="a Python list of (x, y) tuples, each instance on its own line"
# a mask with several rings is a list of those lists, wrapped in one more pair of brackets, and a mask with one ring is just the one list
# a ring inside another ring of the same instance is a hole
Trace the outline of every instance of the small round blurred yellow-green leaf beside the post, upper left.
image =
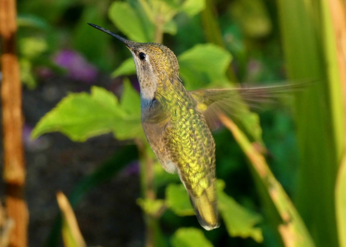
[(34, 58), (47, 51), (48, 45), (44, 38), (27, 37), (19, 39), (19, 50), (23, 56)]

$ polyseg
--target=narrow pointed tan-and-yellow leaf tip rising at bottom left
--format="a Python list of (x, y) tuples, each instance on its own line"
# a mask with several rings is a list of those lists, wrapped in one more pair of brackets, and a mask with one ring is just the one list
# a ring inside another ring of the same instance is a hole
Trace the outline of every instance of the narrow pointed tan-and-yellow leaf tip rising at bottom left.
[(65, 247), (86, 247), (76, 217), (66, 196), (62, 192), (58, 192), (56, 199), (63, 216), (62, 235)]

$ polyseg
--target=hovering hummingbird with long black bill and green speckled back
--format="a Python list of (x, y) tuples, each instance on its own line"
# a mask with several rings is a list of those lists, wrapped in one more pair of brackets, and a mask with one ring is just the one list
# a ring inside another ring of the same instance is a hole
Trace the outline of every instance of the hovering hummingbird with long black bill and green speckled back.
[[(236, 110), (235, 98), (239, 95), (252, 101), (256, 95), (265, 97), (270, 88), (188, 91), (179, 78), (177, 58), (168, 47), (133, 42), (89, 25), (119, 39), (130, 50), (140, 85), (141, 122), (149, 145), (167, 172), (178, 173), (201, 226), (206, 230), (219, 227), (211, 128), (218, 122), (217, 112)], [(248, 97), (251, 95), (254, 98)]]

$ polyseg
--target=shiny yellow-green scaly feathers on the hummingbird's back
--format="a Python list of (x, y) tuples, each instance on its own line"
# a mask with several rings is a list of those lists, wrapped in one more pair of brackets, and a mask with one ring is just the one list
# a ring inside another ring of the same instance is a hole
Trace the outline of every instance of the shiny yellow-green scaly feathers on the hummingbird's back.
[(214, 180), (215, 143), (211, 131), (196, 109), (197, 102), (181, 82), (166, 81), (156, 91), (156, 98), (167, 114), (171, 115), (167, 128), (167, 148), (186, 189), (201, 196)]

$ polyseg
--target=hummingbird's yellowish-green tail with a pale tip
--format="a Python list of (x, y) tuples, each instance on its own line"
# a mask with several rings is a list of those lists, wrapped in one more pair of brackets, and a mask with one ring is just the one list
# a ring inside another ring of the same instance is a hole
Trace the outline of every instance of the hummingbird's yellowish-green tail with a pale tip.
[(215, 184), (210, 185), (203, 191), (201, 196), (194, 196), (188, 191), (192, 207), (197, 216), (198, 222), (206, 230), (212, 230), (220, 226)]

